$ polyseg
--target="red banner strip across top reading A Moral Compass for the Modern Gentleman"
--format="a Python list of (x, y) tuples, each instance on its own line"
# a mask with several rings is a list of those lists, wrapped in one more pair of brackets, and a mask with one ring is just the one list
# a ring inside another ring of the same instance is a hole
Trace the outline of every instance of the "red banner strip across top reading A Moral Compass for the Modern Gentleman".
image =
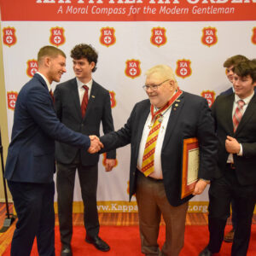
[(2, 20), (255, 20), (256, 0), (0, 0)]

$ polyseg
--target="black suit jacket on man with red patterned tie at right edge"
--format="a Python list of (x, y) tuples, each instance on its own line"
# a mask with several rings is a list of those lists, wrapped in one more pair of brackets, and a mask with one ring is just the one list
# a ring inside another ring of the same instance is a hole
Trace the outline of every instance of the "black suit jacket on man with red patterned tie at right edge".
[(227, 135), (235, 137), (242, 145), (242, 156), (233, 154), (236, 176), (241, 185), (256, 183), (256, 95), (249, 102), (236, 132), (233, 131), (232, 109), (235, 94), (220, 95), (212, 104), (218, 136), (218, 170), (216, 177), (224, 175), (224, 166), (229, 153), (225, 149)]

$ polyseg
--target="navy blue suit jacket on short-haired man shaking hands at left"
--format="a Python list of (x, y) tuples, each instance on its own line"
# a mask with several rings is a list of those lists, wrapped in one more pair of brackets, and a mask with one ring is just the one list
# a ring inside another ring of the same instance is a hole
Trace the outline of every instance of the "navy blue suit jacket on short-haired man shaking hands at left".
[(5, 177), (9, 181), (50, 183), (55, 172), (55, 140), (79, 148), (90, 138), (74, 132), (57, 119), (43, 77), (35, 74), (20, 90), (16, 105)]

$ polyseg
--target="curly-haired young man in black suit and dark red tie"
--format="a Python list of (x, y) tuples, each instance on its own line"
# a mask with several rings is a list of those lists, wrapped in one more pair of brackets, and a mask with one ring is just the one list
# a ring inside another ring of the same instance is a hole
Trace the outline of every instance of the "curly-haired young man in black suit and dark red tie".
[[(113, 131), (113, 118), (108, 90), (91, 77), (96, 71), (98, 55), (87, 44), (78, 44), (71, 51), (75, 78), (55, 88), (55, 111), (61, 122), (73, 131), (99, 136), (100, 125), (104, 133)], [(107, 153), (106, 171), (115, 165), (115, 150)], [(107, 252), (110, 247), (99, 236), (96, 208), (99, 155), (90, 155), (83, 148), (56, 143), (58, 212), (61, 232), (61, 256), (72, 255), (70, 245), (73, 224), (73, 189), (78, 169), (79, 183), (84, 201), (85, 241), (98, 250)]]

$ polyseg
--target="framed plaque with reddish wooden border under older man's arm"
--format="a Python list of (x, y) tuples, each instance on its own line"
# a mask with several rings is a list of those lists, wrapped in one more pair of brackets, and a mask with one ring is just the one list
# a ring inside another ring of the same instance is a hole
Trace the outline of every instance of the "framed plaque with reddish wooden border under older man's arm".
[(199, 143), (196, 137), (183, 140), (181, 198), (190, 195), (195, 189), (199, 169)]

